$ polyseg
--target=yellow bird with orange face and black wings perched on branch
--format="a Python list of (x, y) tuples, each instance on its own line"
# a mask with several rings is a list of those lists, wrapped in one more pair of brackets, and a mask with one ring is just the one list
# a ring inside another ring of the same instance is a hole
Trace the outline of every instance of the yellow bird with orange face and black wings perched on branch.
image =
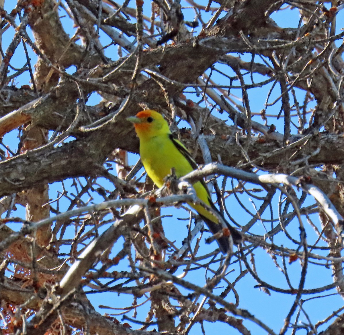
[[(154, 110), (143, 110), (135, 116), (127, 118), (132, 122), (140, 141), (140, 157), (148, 176), (159, 188), (164, 184), (164, 178), (171, 174), (174, 168), (176, 177), (180, 178), (187, 173), (197, 169), (197, 163), (190, 152), (170, 131), (169, 124), (164, 117)], [(211, 200), (211, 195), (202, 179), (193, 184), (196, 195), (201, 202), (221, 216), (221, 219), (229, 229), (234, 244), (240, 244), (242, 238), (240, 233), (232, 227), (217, 210)], [(222, 224), (211, 211), (202, 204), (187, 203), (192, 207), (206, 223), (209, 230), (216, 234), (222, 231)], [(229, 251), (228, 237), (222, 236), (217, 239), (220, 250), (226, 254)]]

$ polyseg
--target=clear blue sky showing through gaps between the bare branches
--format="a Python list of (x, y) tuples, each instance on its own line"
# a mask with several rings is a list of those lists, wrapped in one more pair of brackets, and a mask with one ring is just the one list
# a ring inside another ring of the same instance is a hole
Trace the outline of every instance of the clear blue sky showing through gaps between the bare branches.
[[(133, 3), (132, 3), (133, 4)], [(183, 1), (182, 1), (183, 4)], [(186, 3), (184, 2), (186, 5)], [(213, 3), (215, 5), (215, 3)], [(12, 6), (14, 6), (14, 3), (10, 1), (5, 2), (5, 9), (8, 10), (9, 12), (12, 9)], [(187, 9), (184, 12), (185, 19), (186, 20), (193, 20), (194, 17), (194, 11), (192, 9)], [(145, 1), (144, 3), (144, 14), (146, 14), (148, 17), (150, 16), (150, 1)], [(64, 15), (63, 12), (61, 12), (61, 15)], [(210, 16), (211, 13), (208, 13)], [(281, 27), (297, 27), (300, 19), (299, 12), (296, 9), (285, 9), (281, 12), (273, 13), (271, 16), (272, 19), (276, 20), (276, 22), (281, 26)], [(133, 19), (132, 19), (133, 20)], [(73, 23), (67, 18), (63, 18), (62, 22), (64, 24), (65, 30), (72, 36), (75, 32), (75, 28), (73, 27)], [(344, 16), (343, 13), (340, 13), (337, 18), (337, 33), (341, 28), (344, 26)], [(200, 28), (196, 28), (195, 31), (197, 33), (197, 29), (199, 30)], [(32, 34), (30, 30), (28, 29), (29, 35), (32, 37)], [(11, 39), (13, 37), (13, 29), (9, 28), (8, 31), (6, 31), (3, 34), (2, 37), (2, 47), (3, 50), (6, 50), (7, 46), (9, 45)], [(100, 32), (100, 40), (103, 43), (103, 45), (110, 43), (110, 39), (103, 33)], [(133, 40), (131, 38), (130, 40)], [(338, 41), (339, 43), (340, 41)], [(20, 51), (22, 50), (22, 51)], [(106, 49), (106, 55), (108, 57), (111, 57), (113, 60), (117, 59), (117, 46), (112, 46)], [(32, 50), (29, 49), (29, 54), (32, 59), (32, 63), (35, 62), (36, 60), (36, 55), (32, 52)], [(19, 49), (15, 52), (12, 60), (11, 60), (11, 65), (17, 68), (22, 67), (26, 59), (23, 57), (23, 49), (22, 45), (20, 45)], [(234, 54), (237, 56), (237, 54)], [(240, 55), (240, 57), (244, 60), (250, 61), (250, 57), (247, 55)], [(256, 61), (259, 61), (258, 58)], [(221, 64), (217, 64), (216, 67), (218, 69), (224, 68)], [(228, 71), (228, 68), (226, 67), (226, 70)], [(73, 73), (75, 71), (75, 68), (71, 67), (68, 69), (69, 73)], [(207, 71), (209, 73), (209, 71)], [(222, 82), (222, 84), (226, 85), (229, 84), (228, 79), (225, 79), (224, 77), (221, 77), (219, 74), (213, 74), (214, 77), (212, 77), (215, 81), (219, 80)], [(256, 75), (254, 77), (255, 81), (259, 80), (265, 80), (266, 77)], [(21, 74), (13, 83), (16, 87), (20, 87), (21, 85), (25, 84), (30, 84), (30, 76), (28, 72), (25, 72)], [(235, 83), (234, 83), (235, 84)], [(267, 92), (269, 90), (269, 86), (263, 87), (261, 89), (254, 89), (249, 91), (249, 99), (251, 102), (251, 105), (254, 107), (252, 112), (259, 112), (261, 109), (264, 108), (264, 104), (266, 101), (266, 96)], [(236, 96), (236, 97), (241, 97), (241, 90), (231, 90), (231, 93)], [(271, 94), (271, 99), (269, 101), (273, 101), (276, 97), (278, 97), (280, 94), (279, 88), (276, 88), (272, 94)], [(300, 101), (302, 101), (302, 94), (300, 90), (297, 90), (298, 98)], [(187, 95), (187, 97), (192, 97), (194, 98), (193, 94)], [(94, 93), (92, 98), (89, 99), (88, 104), (97, 104), (99, 102), (99, 95)], [(232, 97), (235, 99), (235, 97)], [(198, 98), (197, 98), (198, 99)], [(196, 99), (195, 99), (196, 102)], [(240, 99), (237, 99), (238, 103), (240, 102)], [(277, 115), (280, 110), (280, 102), (277, 102), (275, 106), (271, 106), (268, 108), (267, 113), (270, 114), (275, 114)], [(226, 119), (225, 114), (219, 114), (217, 112), (214, 113), (214, 115), (218, 116), (219, 118)], [(255, 116), (254, 117), (255, 121), (262, 122), (260, 119), (260, 116)], [(283, 129), (283, 118), (280, 120), (274, 119), (274, 124), (277, 126), (277, 130), (281, 131)], [(230, 124), (230, 123), (229, 123)], [(185, 123), (183, 123), (185, 125)], [(295, 129), (292, 130), (294, 133), (296, 132)], [(18, 146), (18, 139), (16, 138), (17, 133), (12, 132), (10, 134), (7, 134), (4, 136), (3, 142), (6, 143), (9, 148), (11, 148), (13, 151), (17, 150)], [(129, 155), (129, 162), (130, 164), (135, 164), (136, 161), (138, 160), (138, 155), (130, 154)], [(115, 173), (115, 170), (112, 171)], [(141, 170), (138, 173), (138, 176), (143, 172)], [(103, 185), (104, 187), (110, 189), (112, 186), (107, 184), (107, 182), (104, 179), (99, 179), (98, 182)], [(71, 180), (66, 181), (65, 185), (70, 186), (68, 184), (71, 184)], [(235, 181), (236, 184), (236, 181)], [(256, 187), (254, 185), (251, 185), (252, 187)], [(247, 186), (248, 187), (248, 186)], [(228, 184), (227, 189), (230, 189), (230, 184)], [(111, 189), (110, 189), (111, 191)], [(54, 183), (50, 185), (50, 197), (52, 199), (55, 199), (58, 195), (58, 192), (62, 192), (62, 185), (61, 183)], [(100, 202), (102, 201), (100, 196), (97, 196), (96, 194), (93, 194), (94, 200), (92, 202)], [(259, 207), (259, 202), (258, 200), (252, 200), (248, 199), (248, 197), (241, 197), (242, 201), (245, 203), (247, 208), (254, 212), (254, 206), (253, 202), (255, 202), (256, 206)], [(83, 198), (84, 201), (87, 201), (87, 196)], [(313, 203), (312, 199), (308, 200), (309, 204)], [(226, 204), (228, 206), (228, 210), (230, 211), (230, 214), (236, 219), (239, 223), (246, 223), (250, 220), (250, 216), (244, 212), (243, 210), (240, 209), (240, 205), (237, 203), (237, 201), (234, 199), (233, 196), (230, 196), (226, 200)], [(273, 206), (277, 206), (277, 199), (273, 200), (272, 203)], [(66, 209), (68, 206), (68, 203), (63, 203), (61, 201), (60, 203), (60, 210), (63, 211)], [(17, 206), (18, 210), (13, 213), (13, 216), (20, 215), (22, 217), (25, 216), (24, 214), (24, 209), (21, 206)], [(184, 211), (183, 209), (172, 209), (172, 208), (167, 208), (162, 210), (162, 214), (173, 214), (173, 217), (165, 217), (163, 220), (163, 226), (164, 226), (164, 231), (166, 237), (169, 238), (171, 241), (176, 241), (176, 245), (181, 245), (182, 239), (186, 236), (187, 234), (187, 224), (188, 224), (188, 213)], [(186, 219), (186, 221), (182, 220), (176, 220), (176, 218), (183, 218)], [(267, 217), (263, 217), (268, 219)], [(313, 222), (319, 225), (319, 220), (315, 215), (311, 215), (311, 218), (313, 219)], [(103, 226), (100, 228), (100, 232), (105, 230), (107, 226)], [(307, 234), (309, 238), (309, 244), (312, 242), (315, 242), (317, 236), (315, 235), (313, 229), (309, 227), (308, 225), (306, 226), (307, 229)], [(292, 222), (288, 226), (288, 231), (293, 233), (293, 236), (297, 236), (298, 234), (298, 223), (297, 222)], [(69, 227), (68, 234), (70, 234), (71, 237), (74, 237), (74, 227)], [(260, 222), (257, 222), (255, 227), (254, 227), (254, 232), (263, 234), (264, 233), (264, 227)], [(214, 247), (217, 247), (216, 243), (212, 243), (210, 245), (206, 245), (204, 243), (204, 238), (209, 236), (208, 234), (203, 235), (203, 239), (201, 241), (202, 245), (202, 251), (211, 251), (213, 250)], [(276, 243), (283, 243), (285, 246), (288, 246), (290, 243), (288, 240), (283, 240), (283, 241), (276, 241)], [(117, 251), (120, 250), (122, 247), (122, 241), (119, 241), (118, 243), (115, 244), (114, 250), (112, 251), (112, 254), (116, 254)], [(290, 245), (290, 247), (295, 248), (294, 245)], [(66, 251), (68, 252), (69, 249), (66, 247)], [(268, 281), (269, 283), (272, 283), (273, 285), (276, 285), (278, 287), (282, 288), (288, 288), (287, 283), (285, 282), (284, 276), (280, 273), (278, 268), (275, 266), (273, 263), (271, 256), (264, 250), (261, 249), (256, 249), (254, 250), (255, 254), (255, 259), (256, 259), (256, 266), (257, 266), (257, 272), (261, 276), (263, 280)], [(325, 255), (325, 253), (324, 253)], [(280, 262), (280, 260), (279, 260)], [(214, 267), (216, 269), (216, 267)], [(234, 281), (237, 275), (240, 273), (239, 272), (239, 264), (236, 263), (233, 265), (234, 272), (230, 273), (228, 275), (228, 279), (230, 281)], [(319, 266), (316, 265), (310, 265), (308, 268), (308, 274), (307, 274), (307, 281), (306, 281), (306, 288), (313, 288), (313, 287), (319, 287), (322, 285), (330, 284), (332, 282), (332, 273), (330, 270), (325, 270), (324, 267), (321, 267), (321, 271), (319, 271)], [(300, 263), (294, 262), (290, 265), (287, 265), (288, 272), (291, 277), (291, 281), (294, 287), (298, 286), (298, 280), (299, 280), (299, 275), (301, 271), (301, 266)], [(125, 260), (119, 263), (118, 266), (114, 267), (113, 269), (110, 269), (109, 271), (127, 271), (127, 263)], [(177, 273), (178, 275), (179, 273)], [(187, 276), (187, 279), (198, 283), (199, 285), (204, 285), (204, 273), (202, 270), (200, 271), (192, 271), (190, 274)], [(272, 293), (271, 296), (268, 296), (266, 293), (260, 291), (258, 288), (254, 288), (256, 285), (256, 281), (250, 276), (246, 275), (242, 280), (240, 280), (237, 285), (236, 285), (236, 290), (239, 293), (240, 296), (240, 308), (247, 309), (250, 313), (254, 314), (257, 318), (261, 319), (263, 322), (265, 322), (267, 325), (269, 325), (271, 328), (273, 328), (276, 332), (279, 331), (279, 329), (283, 325), (283, 319), (287, 315), (293, 300), (294, 296), (288, 296), (286, 294), (281, 294), (281, 293)], [(181, 292), (186, 292), (183, 288), (179, 287)], [(215, 289), (214, 293), (221, 292), (221, 288)], [(334, 294), (329, 297), (321, 298), (314, 298), (313, 300), (307, 301), (304, 303), (304, 307), (307, 311), (307, 313), (311, 317), (311, 321), (313, 323), (316, 323), (317, 321), (325, 318), (327, 315), (331, 314), (335, 309), (339, 308), (340, 306), (343, 305), (342, 298), (340, 296), (335, 294), (335, 290), (331, 290), (328, 292), (323, 292), (319, 296), (327, 295), (327, 294)], [(113, 305), (117, 307), (125, 307), (125, 306), (130, 306), (132, 301), (130, 300), (130, 296), (127, 295), (117, 295), (116, 293), (106, 293), (106, 297), (104, 297), (104, 294), (90, 294), (88, 295), (90, 301), (94, 304), (94, 306), (98, 306), (100, 304), (103, 305)], [(310, 296), (304, 296), (303, 299), (310, 298)], [(144, 297), (140, 298), (138, 302), (144, 301)], [(228, 301), (234, 301), (234, 296), (233, 294), (229, 294), (227, 297)], [(111, 311), (110, 309), (99, 309), (100, 313), (113, 313), (114, 311)], [(139, 320), (144, 320), (146, 313), (147, 313), (147, 305), (144, 305), (142, 307), (138, 308), (138, 319)], [(116, 312), (115, 312), (116, 313)], [(127, 313), (129, 317), (132, 316), (132, 312)], [(120, 320), (120, 316), (117, 317)], [(300, 322), (307, 322), (307, 319), (304, 317), (304, 315), (301, 315), (300, 317)], [(263, 335), (266, 334), (265, 331), (263, 331), (260, 327), (252, 325), (249, 321), (244, 321), (244, 324), (251, 330), (252, 334), (255, 335)], [(133, 328), (137, 327), (136, 325), (133, 325)], [(326, 327), (326, 326), (324, 326)], [(324, 328), (323, 327), (323, 328)], [(319, 328), (319, 329), (323, 329)], [(230, 334), (239, 334), (237, 331), (235, 331), (232, 328), (228, 328), (228, 325), (225, 324), (220, 324), (216, 323), (210, 324), (210, 323), (205, 323), (205, 329), (208, 331), (208, 334), (211, 334), (212, 332), (229, 332)], [(196, 325), (195, 328), (192, 328), (190, 334), (200, 334), (201, 329), (199, 325)]]

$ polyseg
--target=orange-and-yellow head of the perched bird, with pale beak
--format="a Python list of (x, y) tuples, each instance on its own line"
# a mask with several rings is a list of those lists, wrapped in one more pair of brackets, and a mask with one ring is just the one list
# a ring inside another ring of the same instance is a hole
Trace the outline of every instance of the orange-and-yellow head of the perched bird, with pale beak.
[(136, 116), (131, 116), (127, 120), (134, 124), (140, 141), (171, 133), (169, 125), (163, 116), (151, 109), (138, 112)]

